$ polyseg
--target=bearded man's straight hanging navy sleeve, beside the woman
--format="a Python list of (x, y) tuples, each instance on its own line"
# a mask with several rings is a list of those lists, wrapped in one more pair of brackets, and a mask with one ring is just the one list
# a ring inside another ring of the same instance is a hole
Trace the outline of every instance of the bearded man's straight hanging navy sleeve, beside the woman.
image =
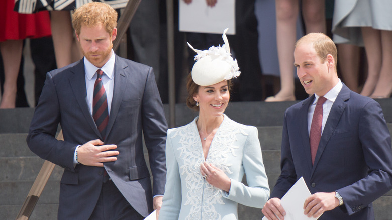
[(142, 101), (142, 124), (153, 175), (153, 195), (163, 195), (166, 182), (167, 122), (152, 68), (148, 70)]

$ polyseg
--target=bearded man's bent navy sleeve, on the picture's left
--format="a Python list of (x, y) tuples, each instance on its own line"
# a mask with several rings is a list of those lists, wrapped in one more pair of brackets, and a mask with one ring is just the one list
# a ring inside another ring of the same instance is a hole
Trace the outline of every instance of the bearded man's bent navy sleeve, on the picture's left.
[(42, 159), (74, 172), (73, 155), (76, 145), (54, 138), (60, 118), (55, 83), (51, 74), (48, 73), (30, 125), (26, 139), (27, 145)]

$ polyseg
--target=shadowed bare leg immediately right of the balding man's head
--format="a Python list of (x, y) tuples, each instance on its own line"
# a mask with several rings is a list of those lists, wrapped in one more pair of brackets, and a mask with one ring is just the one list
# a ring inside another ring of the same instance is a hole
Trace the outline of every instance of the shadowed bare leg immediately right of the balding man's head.
[(339, 70), (349, 89), (358, 92), (359, 47), (351, 44), (338, 44)]

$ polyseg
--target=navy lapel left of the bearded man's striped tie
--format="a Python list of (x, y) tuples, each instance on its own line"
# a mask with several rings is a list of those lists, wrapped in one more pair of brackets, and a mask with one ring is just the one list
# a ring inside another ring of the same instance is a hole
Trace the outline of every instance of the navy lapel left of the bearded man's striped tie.
[(70, 71), (73, 75), (69, 77), (69, 84), (72, 88), (73, 94), (75, 95), (76, 101), (80, 106), (81, 112), (86, 118), (88, 124), (94, 130), (95, 134), (101, 137), (87, 105), (86, 79), (83, 59), (81, 59), (77, 65), (72, 67)]

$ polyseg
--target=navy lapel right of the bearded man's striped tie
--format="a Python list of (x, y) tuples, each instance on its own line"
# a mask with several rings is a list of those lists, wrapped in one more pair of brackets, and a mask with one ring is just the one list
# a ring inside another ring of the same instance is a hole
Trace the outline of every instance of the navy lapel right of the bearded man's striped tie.
[(106, 129), (106, 137), (108, 137), (108, 134), (113, 127), (117, 113), (119, 112), (121, 100), (123, 99), (124, 96), (125, 88), (127, 86), (127, 76), (125, 74), (124, 69), (126, 69), (128, 65), (125, 62), (122, 62), (122, 60), (119, 58), (120, 57), (116, 55), (113, 99), (112, 99), (112, 106), (109, 113), (108, 127)]

